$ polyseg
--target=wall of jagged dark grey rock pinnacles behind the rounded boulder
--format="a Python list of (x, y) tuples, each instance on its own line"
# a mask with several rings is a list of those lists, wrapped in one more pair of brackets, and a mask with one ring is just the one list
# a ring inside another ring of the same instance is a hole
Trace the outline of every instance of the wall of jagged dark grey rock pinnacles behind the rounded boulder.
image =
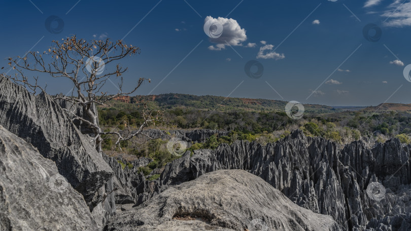
[[(373, 148), (362, 141), (340, 148), (301, 131), (265, 146), (248, 141), (221, 144), (216, 150), (196, 150), (192, 157), (186, 152), (167, 164), (158, 180), (135, 179), (137, 203), (208, 172), (242, 169), (261, 177), (297, 205), (332, 216), (346, 230), (405, 230), (411, 212), (411, 196), (404, 196), (408, 195), (404, 188), (411, 184), (410, 148), (398, 139)], [(396, 215), (405, 220), (399, 226)]]

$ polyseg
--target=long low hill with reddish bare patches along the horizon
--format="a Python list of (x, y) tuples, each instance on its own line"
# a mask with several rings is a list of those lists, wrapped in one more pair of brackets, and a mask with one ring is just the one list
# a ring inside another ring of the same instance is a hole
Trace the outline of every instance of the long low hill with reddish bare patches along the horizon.
[[(123, 96), (112, 100), (109, 104), (118, 109), (135, 109), (138, 102), (146, 102), (152, 109), (188, 108), (200, 110), (246, 110), (246, 111), (284, 111), (287, 101), (269, 99), (226, 98), (222, 96), (196, 96), (188, 94), (161, 94), (149, 96)], [(306, 113), (333, 113), (341, 111), (331, 106), (319, 104), (303, 104)]]

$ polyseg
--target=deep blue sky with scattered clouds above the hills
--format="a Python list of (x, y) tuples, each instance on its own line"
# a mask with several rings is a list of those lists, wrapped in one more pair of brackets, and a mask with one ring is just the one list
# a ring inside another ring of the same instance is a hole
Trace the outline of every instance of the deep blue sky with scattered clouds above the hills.
[[(60, 33), (45, 27), (52, 15), (64, 22)], [(206, 18), (223, 26), (220, 37), (205, 34)], [(411, 103), (411, 83), (403, 76), (411, 64), (410, 0), (3, 1), (2, 20), (2, 58), (22, 56), (34, 45), (32, 50), (47, 50), (52, 40), (72, 34), (88, 40), (124, 37), (142, 51), (122, 62), (129, 66), (125, 85), (131, 89), (140, 77), (152, 80), (141, 95)], [(369, 23), (381, 28), (378, 42), (363, 35)], [(245, 73), (250, 60), (264, 67), (261, 78)], [(68, 81), (42, 77), (50, 94), (71, 89)], [(117, 91), (109, 85), (106, 90)]]

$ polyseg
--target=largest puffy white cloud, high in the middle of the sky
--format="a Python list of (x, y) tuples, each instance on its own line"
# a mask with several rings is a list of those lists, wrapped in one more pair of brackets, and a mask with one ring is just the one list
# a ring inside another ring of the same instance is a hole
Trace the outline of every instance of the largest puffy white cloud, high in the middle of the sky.
[[(247, 40), (246, 30), (244, 28), (242, 29), (236, 20), (232, 18), (213, 18), (207, 16), (204, 22), (208, 20), (219, 22), (223, 26), (223, 32), (220, 37), (210, 38), (210, 42), (216, 43), (217, 47), (220, 45), (221, 49), (225, 49), (227, 43), (231, 46), (243, 46), (242, 43)], [(224, 48), (222, 46), (224, 46)]]

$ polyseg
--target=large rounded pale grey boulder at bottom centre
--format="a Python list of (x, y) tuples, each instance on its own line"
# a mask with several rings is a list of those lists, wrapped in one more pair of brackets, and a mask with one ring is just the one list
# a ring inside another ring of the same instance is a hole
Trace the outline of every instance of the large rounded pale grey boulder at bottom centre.
[[(186, 220), (190, 218), (196, 220)], [(259, 227), (257, 227), (259, 226)], [(260, 177), (220, 170), (169, 187), (114, 216), (105, 230), (341, 230), (326, 215), (292, 203)]]

